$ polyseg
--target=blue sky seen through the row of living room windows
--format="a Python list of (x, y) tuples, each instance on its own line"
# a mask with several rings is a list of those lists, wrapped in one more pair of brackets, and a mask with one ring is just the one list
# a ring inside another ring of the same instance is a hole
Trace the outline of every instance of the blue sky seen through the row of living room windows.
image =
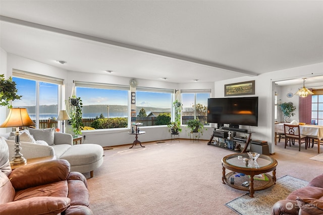
[[(34, 106), (36, 81), (13, 77), (17, 83), (18, 95), (23, 96), (22, 100), (15, 100), (14, 107)], [(128, 91), (93, 89), (77, 87), (77, 97), (81, 97), (83, 105), (128, 105)], [(136, 104), (146, 104), (150, 107), (171, 108), (172, 94), (155, 92), (136, 92)], [(207, 105), (207, 93), (197, 94), (196, 103)], [(58, 85), (40, 82), (39, 104), (52, 105), (58, 103)], [(183, 94), (184, 107), (191, 107), (194, 104), (194, 94)]]

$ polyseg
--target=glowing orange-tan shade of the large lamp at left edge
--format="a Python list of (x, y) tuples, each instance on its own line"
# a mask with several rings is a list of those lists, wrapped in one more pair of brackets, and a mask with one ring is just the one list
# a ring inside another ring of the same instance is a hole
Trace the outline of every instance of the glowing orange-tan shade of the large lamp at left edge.
[(7, 119), (0, 127), (21, 127), (35, 125), (26, 108), (11, 108)]

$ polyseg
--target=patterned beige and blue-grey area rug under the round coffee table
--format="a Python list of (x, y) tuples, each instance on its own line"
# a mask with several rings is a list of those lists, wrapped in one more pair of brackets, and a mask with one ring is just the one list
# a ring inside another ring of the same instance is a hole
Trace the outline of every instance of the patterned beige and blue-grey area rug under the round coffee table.
[(277, 201), (285, 199), (292, 191), (305, 187), (307, 184), (307, 181), (285, 175), (277, 179), (276, 184), (272, 187), (255, 191), (253, 198), (249, 196), (249, 193), (246, 193), (225, 203), (225, 205), (241, 215), (271, 214), (272, 206)]

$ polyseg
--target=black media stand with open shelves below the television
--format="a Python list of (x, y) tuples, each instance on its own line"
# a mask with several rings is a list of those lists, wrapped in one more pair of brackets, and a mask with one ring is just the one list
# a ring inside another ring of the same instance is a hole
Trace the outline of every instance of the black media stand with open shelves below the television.
[[(243, 136), (239, 136), (237, 133), (240, 135), (243, 134)], [(221, 129), (214, 129), (213, 135), (211, 135), (207, 145), (224, 148), (236, 153), (245, 153), (251, 141), (251, 133), (246, 129), (221, 127)], [(216, 139), (213, 141), (214, 137)], [(244, 147), (240, 143), (244, 144)]]

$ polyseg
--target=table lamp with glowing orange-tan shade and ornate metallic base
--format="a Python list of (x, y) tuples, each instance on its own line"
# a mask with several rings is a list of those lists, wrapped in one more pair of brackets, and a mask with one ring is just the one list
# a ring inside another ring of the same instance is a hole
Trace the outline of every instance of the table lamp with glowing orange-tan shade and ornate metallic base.
[(11, 166), (27, 163), (27, 160), (20, 153), (19, 127), (30, 125), (35, 125), (35, 123), (30, 119), (26, 108), (11, 108), (7, 119), (0, 125), (0, 127), (16, 127), (16, 144), (14, 149), (16, 153), (10, 161)]

